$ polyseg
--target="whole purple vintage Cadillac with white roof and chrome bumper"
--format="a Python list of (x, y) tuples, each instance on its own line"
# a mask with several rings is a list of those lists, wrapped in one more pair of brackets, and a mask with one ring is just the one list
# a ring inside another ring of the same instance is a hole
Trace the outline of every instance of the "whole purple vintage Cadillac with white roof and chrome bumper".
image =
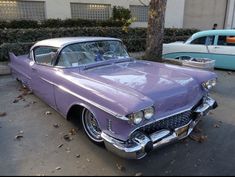
[(10, 60), (23, 85), (128, 159), (186, 138), (217, 107), (208, 94), (214, 73), (135, 60), (119, 39), (49, 39)]

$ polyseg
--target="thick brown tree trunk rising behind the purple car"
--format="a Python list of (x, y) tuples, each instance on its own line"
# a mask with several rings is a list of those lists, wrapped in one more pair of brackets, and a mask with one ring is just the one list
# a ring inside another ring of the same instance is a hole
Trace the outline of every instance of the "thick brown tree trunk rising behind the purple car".
[(145, 59), (162, 61), (167, 0), (151, 0), (149, 7), (147, 49)]

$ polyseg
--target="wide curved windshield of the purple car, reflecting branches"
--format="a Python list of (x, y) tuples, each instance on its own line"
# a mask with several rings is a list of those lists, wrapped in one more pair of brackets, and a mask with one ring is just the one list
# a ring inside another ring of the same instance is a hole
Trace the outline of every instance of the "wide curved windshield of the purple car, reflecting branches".
[(96, 41), (71, 44), (59, 56), (57, 66), (77, 67), (97, 62), (129, 58), (120, 41)]

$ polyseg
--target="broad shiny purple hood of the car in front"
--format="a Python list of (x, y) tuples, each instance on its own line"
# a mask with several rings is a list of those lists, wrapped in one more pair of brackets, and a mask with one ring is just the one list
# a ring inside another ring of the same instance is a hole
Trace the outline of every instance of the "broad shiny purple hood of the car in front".
[[(129, 105), (134, 104), (133, 97), (143, 103), (148, 100), (148, 105), (151, 100), (160, 118), (193, 107), (203, 96), (200, 79), (180, 68), (171, 67), (154, 62), (133, 61), (96, 67), (82, 71), (81, 74), (125, 94), (125, 98), (121, 98), (122, 94), (112, 99), (129, 100)], [(142, 109), (144, 106), (142, 104)]]

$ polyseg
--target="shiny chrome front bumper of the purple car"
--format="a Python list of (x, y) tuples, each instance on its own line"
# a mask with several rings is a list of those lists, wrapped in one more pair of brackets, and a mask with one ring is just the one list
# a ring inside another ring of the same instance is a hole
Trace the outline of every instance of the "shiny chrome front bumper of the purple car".
[(205, 97), (203, 104), (194, 110), (194, 112), (198, 114), (197, 118), (174, 131), (161, 130), (151, 135), (136, 132), (129, 142), (119, 141), (105, 133), (102, 133), (101, 136), (109, 151), (126, 159), (142, 159), (154, 149), (188, 137), (201, 120), (202, 116), (207, 115), (210, 110), (215, 109), (217, 106), (215, 100), (210, 97)]

